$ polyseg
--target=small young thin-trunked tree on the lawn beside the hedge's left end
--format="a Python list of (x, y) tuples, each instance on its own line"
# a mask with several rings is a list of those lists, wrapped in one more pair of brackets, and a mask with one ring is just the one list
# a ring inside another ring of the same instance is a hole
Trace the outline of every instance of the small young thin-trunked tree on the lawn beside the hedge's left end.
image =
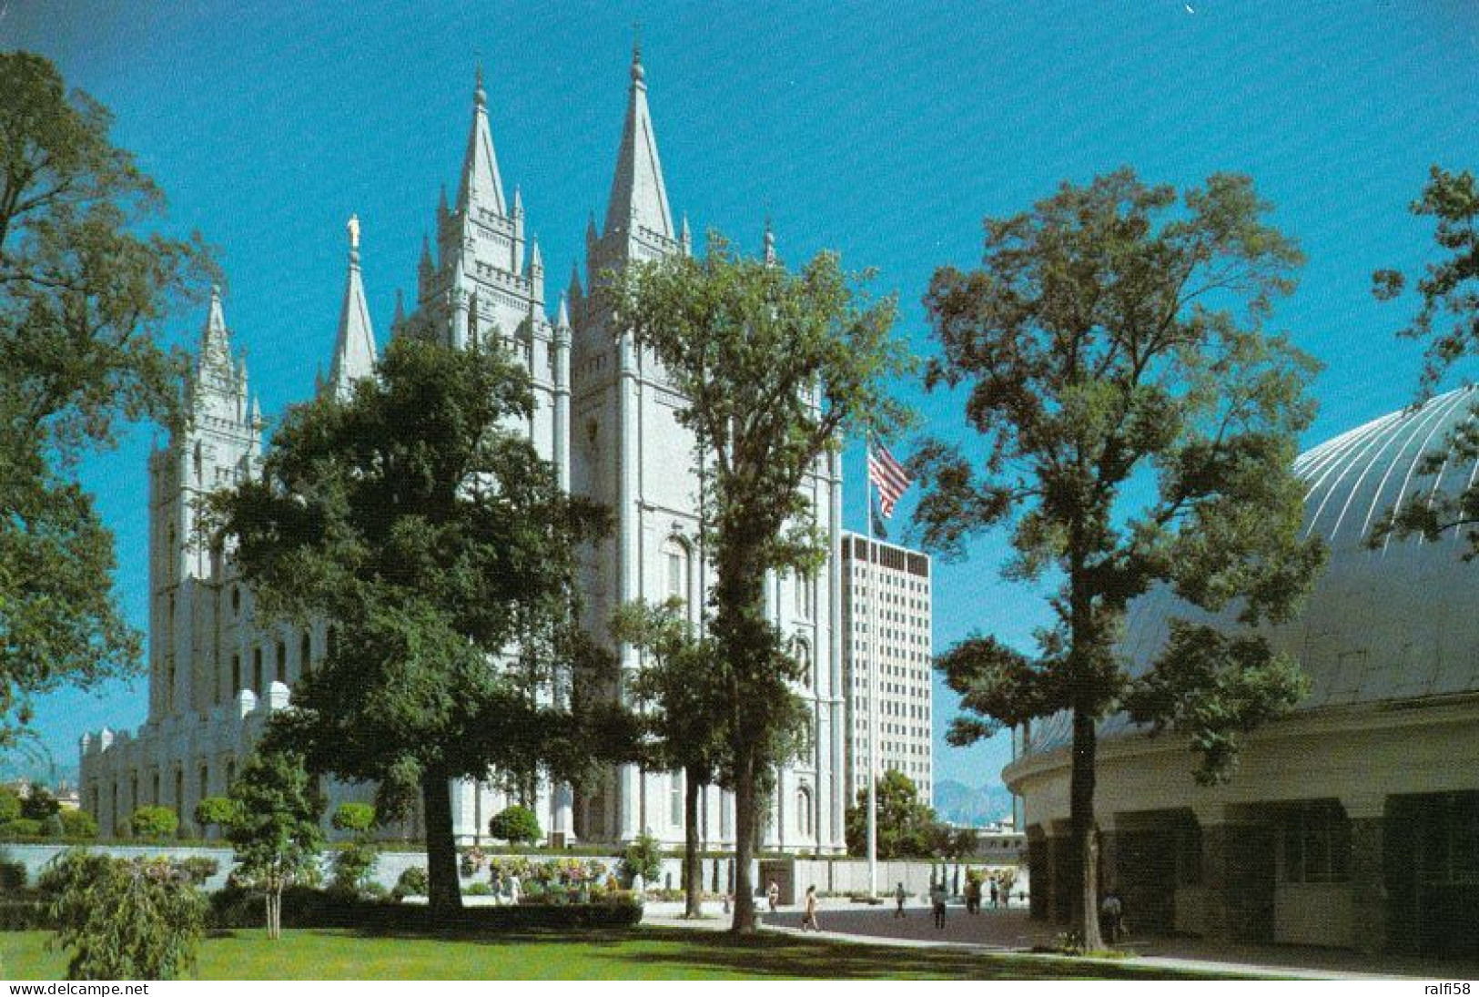
[(226, 831), (232, 876), (266, 901), (268, 938), (282, 936), (282, 890), (318, 882), (324, 800), (303, 756), (272, 746), (272, 731), (231, 784), (237, 817)]

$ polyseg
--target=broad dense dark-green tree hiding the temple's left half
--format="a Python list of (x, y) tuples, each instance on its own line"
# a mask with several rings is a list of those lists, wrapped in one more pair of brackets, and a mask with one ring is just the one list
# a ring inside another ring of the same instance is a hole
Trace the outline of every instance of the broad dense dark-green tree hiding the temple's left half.
[(293, 408), (260, 479), (217, 500), (263, 606), (333, 621), (284, 743), (377, 781), (383, 814), (420, 794), (438, 908), (461, 902), (450, 780), (575, 777), (609, 740), (552, 685), (586, 658), (577, 552), (606, 516), (561, 490), (531, 408), (504, 351), (398, 339), (346, 402)]

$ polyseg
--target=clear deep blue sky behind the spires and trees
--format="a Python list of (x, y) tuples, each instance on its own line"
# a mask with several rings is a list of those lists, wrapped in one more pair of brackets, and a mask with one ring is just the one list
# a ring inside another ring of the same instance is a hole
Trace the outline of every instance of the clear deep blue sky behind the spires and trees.
[[(219, 247), (226, 320), (269, 416), (327, 368), (351, 213), (383, 342), (438, 186), (456, 189), (479, 61), (504, 185), (522, 188), (563, 287), (587, 214), (605, 212), (634, 24), (674, 210), (695, 232), (756, 247), (771, 216), (782, 257), (833, 247), (877, 268), (874, 287), (899, 293), (899, 333), (920, 352), (929, 275), (979, 260), (982, 217), (1123, 164), (1177, 186), (1238, 170), (1309, 256), (1275, 322), (1327, 365), (1306, 442), (1411, 399), (1418, 351), (1392, 336), (1411, 303), (1378, 306), (1370, 274), (1432, 257), (1429, 228), (1405, 212), (1430, 163), (1479, 167), (1479, 4), (1467, 0), (0, 0), (0, 47), (50, 56), (111, 107), (115, 141), (164, 186), (172, 225)], [(192, 343), (201, 320), (182, 315), (173, 334)], [(958, 399), (899, 392), (926, 426), (958, 425)], [(139, 626), (152, 438), (139, 427), (84, 467)], [(861, 527), (856, 448), (846, 496)], [(936, 648), (972, 629), (1023, 642), (1041, 621), (1041, 595), (997, 577), (1001, 555), (988, 537), (938, 565)], [(46, 746), (75, 765), (77, 738), (139, 723), (143, 695), (139, 680), (47, 698)], [(1006, 746), (945, 747), (952, 713), (941, 688), (938, 778), (997, 781)]]

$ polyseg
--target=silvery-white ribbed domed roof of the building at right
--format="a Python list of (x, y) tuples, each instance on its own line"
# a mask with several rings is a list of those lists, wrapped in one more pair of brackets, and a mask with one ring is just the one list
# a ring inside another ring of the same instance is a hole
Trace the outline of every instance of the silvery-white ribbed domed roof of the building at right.
[[(1389, 537), (1367, 544), (1392, 506), (1414, 493), (1458, 494), (1479, 463), (1449, 457), (1452, 430), (1476, 419), (1479, 388), (1430, 399), (1358, 426), (1303, 453), (1294, 472), (1307, 482), (1304, 535), (1330, 547), (1300, 615), (1270, 627), (1269, 638), (1310, 677), (1300, 710), (1479, 692), (1479, 561), (1464, 561), (1460, 528), (1436, 541)], [(1438, 473), (1426, 473), (1439, 454)], [(1130, 605), (1121, 652), (1131, 672), (1149, 667), (1164, 646), (1171, 617), (1235, 626), (1232, 614), (1208, 615), (1158, 587)], [(1103, 734), (1123, 732), (1112, 717)], [(1035, 750), (1068, 740), (1066, 717), (1034, 731)]]

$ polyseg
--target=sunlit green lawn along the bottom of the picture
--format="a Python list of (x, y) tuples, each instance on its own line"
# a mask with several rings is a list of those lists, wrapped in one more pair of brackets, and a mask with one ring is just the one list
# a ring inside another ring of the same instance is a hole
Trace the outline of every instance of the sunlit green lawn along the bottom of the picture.
[[(61, 979), (47, 932), (0, 932), (0, 978)], [(1167, 979), (1133, 966), (676, 929), (516, 936), (216, 932), (201, 979)]]

